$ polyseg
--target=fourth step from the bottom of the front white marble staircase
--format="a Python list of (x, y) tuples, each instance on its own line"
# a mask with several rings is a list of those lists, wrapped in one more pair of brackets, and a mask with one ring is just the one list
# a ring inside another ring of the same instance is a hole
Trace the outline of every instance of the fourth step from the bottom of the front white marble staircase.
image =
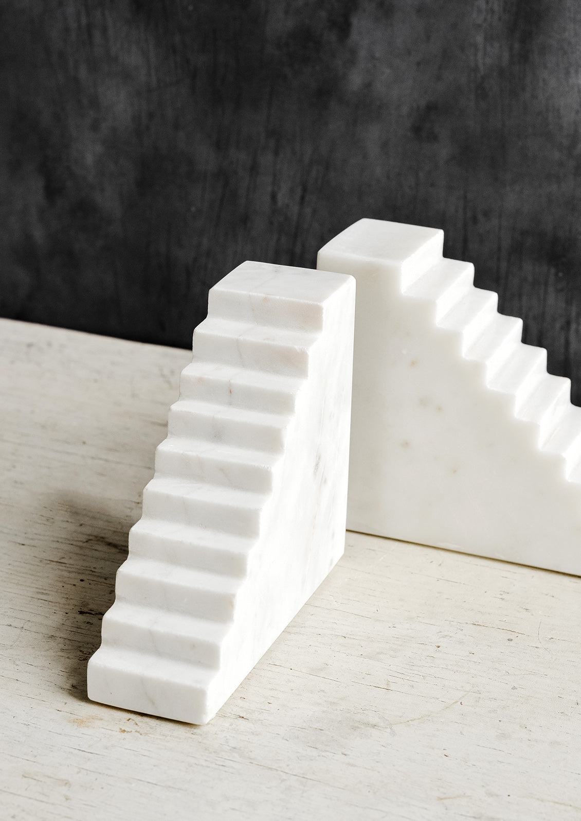
[(254, 544), (254, 538), (149, 516), (142, 517), (129, 531), (131, 557), (240, 578), (246, 576)]

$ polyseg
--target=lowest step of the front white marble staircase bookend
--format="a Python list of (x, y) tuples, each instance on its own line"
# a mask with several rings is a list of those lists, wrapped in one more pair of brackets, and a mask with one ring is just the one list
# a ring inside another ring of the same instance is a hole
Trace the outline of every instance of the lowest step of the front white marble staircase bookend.
[(208, 690), (217, 672), (158, 654), (101, 644), (90, 660), (89, 699), (178, 721), (205, 723)]

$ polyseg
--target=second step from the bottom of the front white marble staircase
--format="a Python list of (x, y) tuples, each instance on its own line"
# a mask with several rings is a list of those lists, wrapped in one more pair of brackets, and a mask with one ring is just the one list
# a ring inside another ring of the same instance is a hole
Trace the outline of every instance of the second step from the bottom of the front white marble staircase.
[(116, 601), (103, 616), (103, 642), (217, 669), (229, 623)]

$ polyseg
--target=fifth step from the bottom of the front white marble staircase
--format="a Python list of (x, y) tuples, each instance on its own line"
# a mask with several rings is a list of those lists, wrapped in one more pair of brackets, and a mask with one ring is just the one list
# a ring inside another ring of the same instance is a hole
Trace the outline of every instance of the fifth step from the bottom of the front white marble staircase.
[(263, 493), (156, 475), (144, 488), (143, 515), (252, 538), (267, 499)]

